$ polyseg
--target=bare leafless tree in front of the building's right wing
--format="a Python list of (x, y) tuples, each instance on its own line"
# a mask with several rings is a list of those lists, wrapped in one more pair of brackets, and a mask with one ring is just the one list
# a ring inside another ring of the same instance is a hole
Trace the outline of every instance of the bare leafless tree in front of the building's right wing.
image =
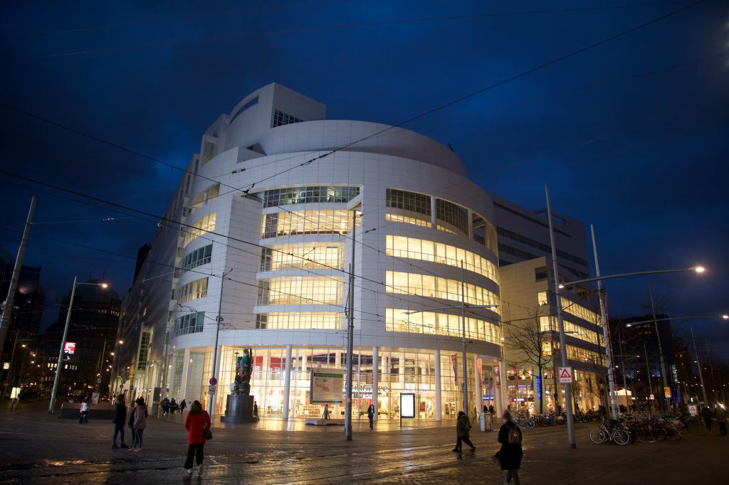
[[(547, 318), (549, 318), (547, 316)], [(515, 363), (522, 367), (537, 368), (542, 385), (539, 386), (539, 413), (544, 412), (544, 369), (552, 362), (550, 341), (552, 331), (542, 330), (539, 318), (539, 307), (527, 320), (518, 325), (509, 323), (506, 332), (506, 347), (515, 350)], [(515, 376), (518, 379), (518, 376)]]

